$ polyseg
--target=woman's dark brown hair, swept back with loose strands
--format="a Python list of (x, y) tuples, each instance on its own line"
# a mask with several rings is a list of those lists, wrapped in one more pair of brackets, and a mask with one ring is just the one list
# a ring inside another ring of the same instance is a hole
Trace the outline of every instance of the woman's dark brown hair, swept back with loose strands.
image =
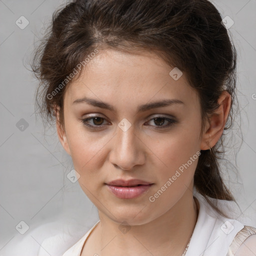
[[(236, 97), (236, 50), (221, 19), (218, 10), (208, 0), (69, 2), (53, 13), (52, 23), (31, 64), (40, 80), (36, 92), (40, 114), (49, 122), (55, 120), (54, 106), (57, 106), (63, 126), (66, 89), (63, 81), (95, 49), (114, 48), (131, 52), (145, 49), (154, 51), (170, 66), (186, 73), (189, 84), (196, 88), (200, 98), (201, 132), (205, 121), (219, 106), (219, 95), (223, 90), (228, 91), (231, 108), (224, 129), (230, 128)], [(217, 159), (222, 159), (224, 152), (219, 150), (220, 146), (223, 148), (222, 137), (223, 134), (211, 150), (201, 150), (194, 187), (218, 213), (226, 216), (210, 200), (235, 201), (218, 166)]]

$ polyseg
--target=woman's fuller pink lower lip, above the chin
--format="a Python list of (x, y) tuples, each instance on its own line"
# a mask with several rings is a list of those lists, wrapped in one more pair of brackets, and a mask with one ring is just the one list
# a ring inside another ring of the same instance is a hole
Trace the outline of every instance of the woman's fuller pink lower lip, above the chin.
[(139, 185), (139, 186), (133, 186), (133, 187), (125, 187), (125, 186), (114, 186), (114, 185), (107, 185), (108, 188), (113, 192), (114, 195), (116, 195), (119, 198), (123, 199), (131, 199), (138, 197), (142, 193), (144, 193), (146, 190), (149, 189), (149, 187), (152, 184), (148, 185)]

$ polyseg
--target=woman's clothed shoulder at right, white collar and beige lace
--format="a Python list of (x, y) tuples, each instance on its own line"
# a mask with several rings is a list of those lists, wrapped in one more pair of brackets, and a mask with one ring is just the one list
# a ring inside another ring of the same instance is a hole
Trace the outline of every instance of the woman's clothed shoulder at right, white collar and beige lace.
[[(213, 201), (213, 204), (215, 201)], [(223, 255), (223, 252), (232, 256), (256, 256), (256, 229), (252, 226), (244, 225), (238, 221), (232, 214), (233, 203), (224, 200), (217, 201), (221, 210), (229, 217), (222, 216), (216, 212), (204, 200), (200, 201), (201, 215), (199, 211), (200, 232), (202, 229), (204, 237), (207, 239), (207, 244), (210, 245), (214, 242), (215, 246), (208, 246), (207, 255)], [(202, 207), (201, 207), (202, 206)], [(198, 233), (199, 234), (199, 233)], [(201, 235), (203, 238), (203, 236)], [(207, 245), (206, 244), (206, 245)], [(250, 252), (250, 254), (249, 254)]]

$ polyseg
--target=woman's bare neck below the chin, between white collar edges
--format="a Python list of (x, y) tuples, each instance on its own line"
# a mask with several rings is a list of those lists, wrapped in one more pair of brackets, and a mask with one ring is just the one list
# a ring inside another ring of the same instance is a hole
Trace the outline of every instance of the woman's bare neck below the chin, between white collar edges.
[(109, 219), (101, 211), (99, 219), (90, 240), (93, 253), (98, 251), (100, 256), (157, 256), (168, 255), (171, 251), (171, 255), (181, 256), (196, 223), (197, 207), (191, 190), (187, 189), (167, 212), (150, 222), (131, 225), (127, 232), (121, 232), (120, 223)]

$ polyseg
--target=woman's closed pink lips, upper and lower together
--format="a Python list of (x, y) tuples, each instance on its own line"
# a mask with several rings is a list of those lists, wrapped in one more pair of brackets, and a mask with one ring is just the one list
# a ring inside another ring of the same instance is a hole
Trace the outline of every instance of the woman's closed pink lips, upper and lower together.
[(106, 185), (117, 197), (131, 199), (144, 193), (152, 184), (141, 179), (116, 179), (108, 182)]

